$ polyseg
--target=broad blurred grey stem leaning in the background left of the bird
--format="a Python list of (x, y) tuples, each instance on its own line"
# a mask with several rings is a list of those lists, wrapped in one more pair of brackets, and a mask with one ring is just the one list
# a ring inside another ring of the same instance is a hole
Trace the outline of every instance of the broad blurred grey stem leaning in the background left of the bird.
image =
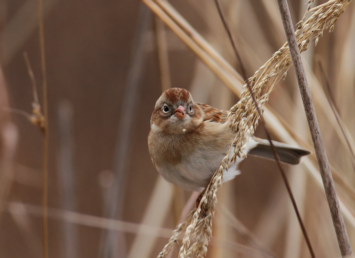
[[(106, 195), (105, 213), (106, 216), (121, 218), (123, 214), (124, 196), (127, 189), (128, 162), (132, 146), (130, 139), (132, 129), (137, 113), (136, 103), (139, 101), (142, 87), (142, 69), (146, 60), (144, 51), (144, 34), (151, 26), (150, 11), (143, 5), (140, 5), (138, 25), (135, 32), (135, 38), (132, 45), (132, 55), (130, 57), (127, 80), (124, 87), (123, 101), (121, 104), (120, 119), (118, 122), (117, 139), (115, 142), (114, 159), (112, 171), (114, 173), (115, 183), (109, 188)], [(126, 257), (125, 234), (117, 232), (104, 232), (100, 243), (100, 256), (107, 257), (109, 254), (118, 258)]]

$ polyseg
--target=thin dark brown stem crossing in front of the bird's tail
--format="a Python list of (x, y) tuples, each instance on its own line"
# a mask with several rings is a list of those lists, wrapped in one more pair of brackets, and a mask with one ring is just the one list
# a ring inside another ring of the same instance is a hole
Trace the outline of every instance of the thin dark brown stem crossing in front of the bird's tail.
[(244, 78), (244, 80), (245, 80), (245, 82), (246, 82), (246, 84), (247, 84), (247, 86), (248, 86), (248, 89), (249, 89), (249, 91), (250, 91), (250, 96), (251, 96), (252, 99), (253, 99), (253, 102), (254, 102), (255, 107), (256, 107), (256, 110), (257, 110), (257, 112), (258, 112), (258, 114), (259, 114), (260, 120), (262, 121), (262, 124), (263, 124), (263, 126), (264, 126), (264, 128), (265, 128), (265, 132), (266, 132), (267, 138), (268, 138), (268, 140), (269, 140), (269, 142), (270, 142), (270, 145), (271, 145), (271, 150), (272, 150), (272, 152), (273, 152), (273, 155), (274, 155), (274, 157), (275, 157), (275, 160), (277, 161), (277, 164), (278, 164), (278, 166), (279, 166), (281, 175), (282, 175), (282, 177), (283, 177), (283, 179), (284, 179), (284, 183), (285, 183), (287, 192), (288, 192), (288, 194), (289, 194), (289, 196), (290, 196), (290, 198), (291, 198), (291, 202), (292, 202), (293, 208), (294, 208), (294, 210), (295, 210), (298, 223), (299, 223), (300, 226), (301, 226), (302, 233), (303, 233), (303, 236), (304, 236), (304, 238), (305, 238), (305, 240), (306, 240), (308, 249), (309, 249), (309, 251), (310, 251), (310, 253), (311, 253), (312, 258), (315, 258), (316, 256), (315, 256), (315, 254), (314, 254), (314, 251), (313, 251), (313, 248), (312, 248), (312, 245), (311, 245), (311, 241), (310, 241), (310, 239), (309, 239), (309, 237), (308, 237), (308, 234), (307, 234), (307, 231), (306, 231), (306, 227), (304, 226), (303, 221), (302, 221), (302, 218), (301, 218), (301, 215), (300, 215), (300, 213), (299, 213), (299, 210), (298, 210), (298, 207), (297, 207), (297, 204), (296, 204), (296, 200), (295, 200), (295, 198), (294, 198), (294, 196), (293, 196), (293, 193), (292, 193), (291, 186), (290, 186), (290, 184), (289, 184), (289, 182), (288, 182), (288, 179), (287, 179), (287, 177), (286, 177), (286, 173), (284, 172), (284, 168), (282, 167), (281, 162), (280, 162), (280, 160), (279, 160), (279, 157), (278, 157), (278, 155), (277, 155), (277, 153), (276, 153), (274, 144), (273, 144), (273, 142), (271, 141), (270, 131), (269, 131), (269, 129), (268, 129), (267, 126), (266, 126), (266, 122), (265, 122), (265, 120), (264, 120), (264, 118), (263, 118), (263, 116), (262, 116), (262, 114), (261, 114), (261, 112), (260, 112), (259, 106), (258, 106), (258, 104), (257, 104), (257, 101), (256, 101), (255, 96), (254, 96), (254, 94), (253, 94), (253, 91), (252, 91), (252, 89), (251, 89), (251, 86), (250, 86), (250, 84), (249, 84), (249, 80), (248, 80), (246, 68), (245, 68), (245, 66), (244, 66), (244, 64), (243, 64), (243, 62), (242, 62), (242, 59), (241, 59), (241, 57), (240, 57), (240, 55), (239, 55), (239, 52), (238, 52), (238, 50), (237, 50), (237, 47), (236, 47), (236, 45), (235, 45), (235, 43), (234, 43), (234, 40), (233, 40), (233, 37), (232, 37), (232, 33), (230, 32), (230, 29), (229, 29), (229, 27), (228, 27), (227, 21), (224, 19), (224, 16), (223, 16), (223, 13), (222, 13), (222, 9), (221, 9), (221, 7), (220, 7), (220, 5), (219, 5), (218, 0), (215, 0), (215, 3), (216, 3), (216, 6), (217, 6), (217, 10), (218, 10), (219, 16), (220, 16), (220, 18), (221, 18), (221, 20), (222, 20), (224, 29), (225, 29), (226, 32), (228, 33), (228, 37), (229, 37), (229, 39), (230, 39), (230, 41), (231, 41), (231, 43), (232, 43), (232, 47), (233, 47), (234, 53), (235, 53), (235, 55), (236, 55), (236, 57), (237, 57), (237, 59), (238, 59), (239, 64), (240, 64), (241, 67), (242, 67), (242, 75), (243, 75), (243, 78)]

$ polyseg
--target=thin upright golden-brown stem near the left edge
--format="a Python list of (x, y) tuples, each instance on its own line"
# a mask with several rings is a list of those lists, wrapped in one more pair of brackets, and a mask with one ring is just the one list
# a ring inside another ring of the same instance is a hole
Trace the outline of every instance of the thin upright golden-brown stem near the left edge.
[(42, 92), (43, 92), (43, 193), (42, 193), (42, 244), (43, 258), (48, 258), (48, 106), (47, 106), (47, 78), (44, 51), (44, 32), (43, 32), (43, 3), (38, 0), (38, 23), (39, 23), (39, 42), (41, 51), (42, 67)]

